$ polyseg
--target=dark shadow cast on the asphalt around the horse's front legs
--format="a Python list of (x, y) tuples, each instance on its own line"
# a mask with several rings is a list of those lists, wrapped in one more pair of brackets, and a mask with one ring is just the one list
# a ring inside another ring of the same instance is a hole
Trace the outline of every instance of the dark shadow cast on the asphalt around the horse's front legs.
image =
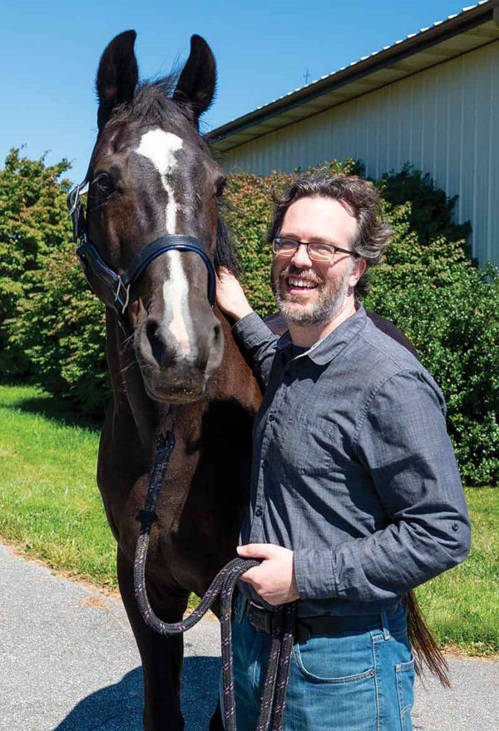
[[(206, 731), (215, 710), (220, 660), (186, 657), (182, 708), (186, 731)], [(142, 669), (91, 693), (53, 731), (142, 731)]]

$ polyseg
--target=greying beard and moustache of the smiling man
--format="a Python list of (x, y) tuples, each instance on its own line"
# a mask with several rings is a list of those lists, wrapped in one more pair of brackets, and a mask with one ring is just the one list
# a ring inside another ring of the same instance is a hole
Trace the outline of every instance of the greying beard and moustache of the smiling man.
[[(299, 269), (289, 266), (285, 270), (278, 273), (274, 279), (274, 294), (279, 311), (287, 322), (293, 325), (321, 325), (326, 322), (332, 322), (335, 317), (345, 306), (346, 296), (348, 294), (348, 279), (353, 270), (353, 266), (348, 267), (341, 279), (324, 280), (323, 277), (314, 269)], [(290, 295), (286, 291), (286, 277), (305, 276), (306, 279), (317, 284), (314, 292), (319, 295), (315, 301), (300, 308), (294, 307), (294, 303), (302, 303), (302, 298)]]

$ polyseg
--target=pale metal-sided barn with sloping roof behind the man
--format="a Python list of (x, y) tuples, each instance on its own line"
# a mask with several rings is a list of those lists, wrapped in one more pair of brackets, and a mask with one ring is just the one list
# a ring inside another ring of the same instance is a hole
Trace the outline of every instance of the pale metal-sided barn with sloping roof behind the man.
[(499, 0), (215, 129), (229, 172), (291, 172), (351, 156), (377, 178), (410, 162), (457, 194), (473, 255), (499, 265)]

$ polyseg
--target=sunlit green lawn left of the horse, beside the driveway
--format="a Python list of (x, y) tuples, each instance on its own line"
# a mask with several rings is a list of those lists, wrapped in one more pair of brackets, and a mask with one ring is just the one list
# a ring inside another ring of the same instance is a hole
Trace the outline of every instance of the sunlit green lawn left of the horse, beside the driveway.
[(115, 542), (96, 487), (99, 429), (31, 386), (0, 385), (0, 534), (102, 586)]

